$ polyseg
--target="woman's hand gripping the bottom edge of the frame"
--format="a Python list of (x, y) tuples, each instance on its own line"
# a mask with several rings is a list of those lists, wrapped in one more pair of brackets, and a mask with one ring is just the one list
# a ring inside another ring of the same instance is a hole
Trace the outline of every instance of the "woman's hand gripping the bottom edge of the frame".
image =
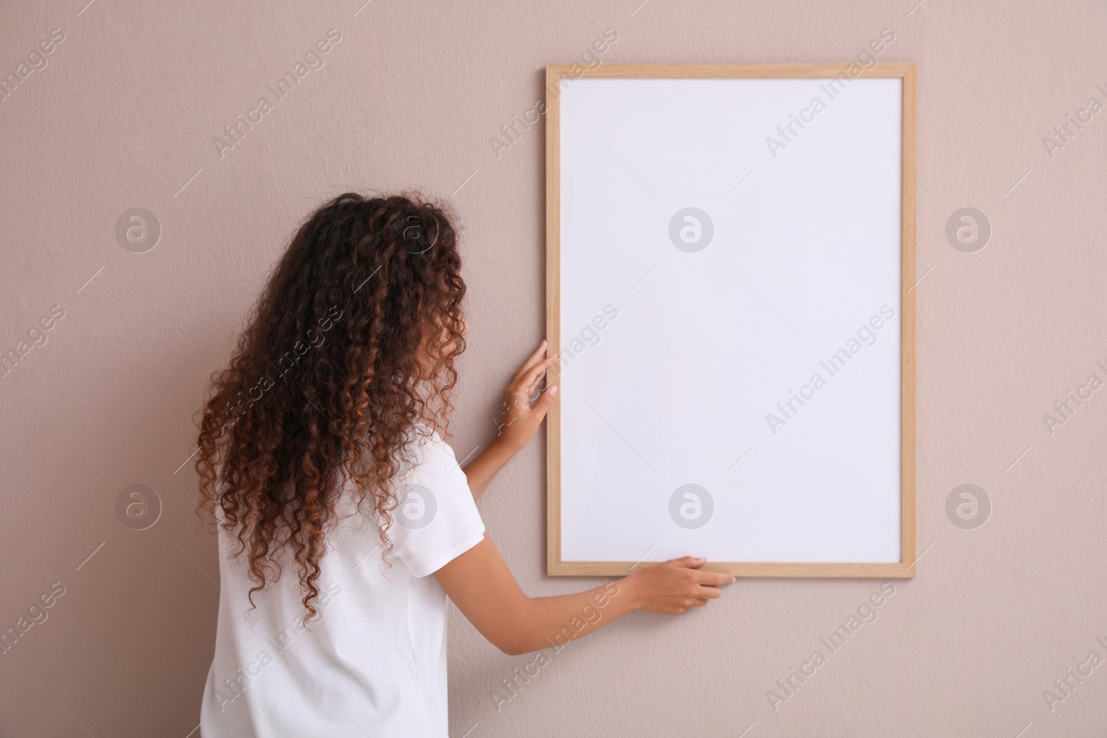
[(684, 557), (663, 561), (622, 580), (620, 588), (631, 591), (635, 610), (665, 615), (682, 615), (691, 607), (702, 607), (707, 600), (722, 595), (718, 589), (734, 581), (731, 574), (697, 571), (706, 559)]

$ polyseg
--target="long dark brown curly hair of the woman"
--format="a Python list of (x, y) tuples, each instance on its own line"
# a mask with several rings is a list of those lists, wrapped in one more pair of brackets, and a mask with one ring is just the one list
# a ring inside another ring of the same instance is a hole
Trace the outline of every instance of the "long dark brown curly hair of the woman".
[(448, 437), (464, 297), (457, 233), (421, 196), (346, 193), (300, 226), (199, 418), (198, 511), (247, 555), (251, 606), (291, 551), (304, 621), (315, 615), (343, 489), (391, 552), (410, 444)]

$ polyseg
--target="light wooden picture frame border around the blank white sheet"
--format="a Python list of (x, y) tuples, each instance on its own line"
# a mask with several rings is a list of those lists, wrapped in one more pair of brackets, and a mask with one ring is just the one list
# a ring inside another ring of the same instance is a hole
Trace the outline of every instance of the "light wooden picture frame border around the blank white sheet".
[[(860, 70), (859, 73), (856, 73)], [(787, 578), (911, 578), (915, 574), (915, 148), (917, 65), (879, 63), (870, 70), (857, 64), (602, 64), (586, 70), (575, 64), (546, 69), (546, 336), (550, 355), (561, 352), (560, 324), (560, 91), (563, 77), (642, 79), (837, 79), (899, 77), (902, 80), (901, 163), (901, 428), (900, 549), (893, 563), (713, 561), (704, 568), (737, 576)], [(894, 154), (893, 154), (894, 155)], [(557, 383), (557, 365), (549, 382)], [(624, 575), (651, 561), (563, 561), (561, 559), (561, 397), (547, 416), (547, 571), (554, 575)]]

